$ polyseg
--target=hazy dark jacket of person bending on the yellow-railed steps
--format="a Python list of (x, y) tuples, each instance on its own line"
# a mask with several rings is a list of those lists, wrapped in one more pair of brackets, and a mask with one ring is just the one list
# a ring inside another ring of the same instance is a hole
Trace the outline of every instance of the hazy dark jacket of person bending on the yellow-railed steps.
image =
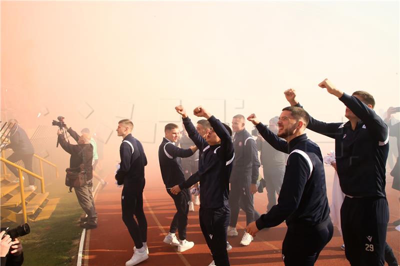
[(13, 126), (9, 133), (10, 144), (5, 146), (5, 149), (12, 149), (17, 154), (33, 154), (34, 149), (25, 130), (19, 124)]

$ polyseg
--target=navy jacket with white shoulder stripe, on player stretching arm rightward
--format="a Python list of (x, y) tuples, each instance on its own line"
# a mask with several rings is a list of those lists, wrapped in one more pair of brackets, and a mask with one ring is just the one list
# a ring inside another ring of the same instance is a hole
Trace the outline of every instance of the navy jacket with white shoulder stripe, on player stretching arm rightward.
[(184, 181), (180, 158), (192, 155), (193, 152), (190, 149), (181, 149), (166, 138), (162, 139), (158, 148), (158, 161), (165, 188), (171, 188)]

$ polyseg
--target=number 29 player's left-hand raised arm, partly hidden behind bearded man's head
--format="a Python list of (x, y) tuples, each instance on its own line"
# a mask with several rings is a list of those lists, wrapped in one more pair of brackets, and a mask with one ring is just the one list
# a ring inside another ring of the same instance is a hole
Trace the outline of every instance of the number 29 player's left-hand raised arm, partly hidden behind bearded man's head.
[[(286, 97), (286, 100), (290, 103), (291, 106), (297, 106), (300, 108), (303, 108), (300, 103), (296, 99), (296, 92), (293, 88), (287, 89), (284, 92), (284, 96)], [(303, 108), (304, 109), (304, 108)], [(307, 128), (309, 130), (312, 130), (316, 133), (325, 135), (329, 138), (335, 138), (337, 134), (337, 129), (342, 123), (325, 123), (322, 121), (318, 121), (314, 119), (309, 113), (309, 122), (307, 125)]]

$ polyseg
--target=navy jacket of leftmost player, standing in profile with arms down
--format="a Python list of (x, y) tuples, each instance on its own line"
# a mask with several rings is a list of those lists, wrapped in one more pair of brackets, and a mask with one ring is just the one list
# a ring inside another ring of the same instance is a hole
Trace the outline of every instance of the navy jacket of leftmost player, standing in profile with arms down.
[(118, 185), (131, 185), (142, 189), (147, 158), (140, 141), (135, 139), (132, 134), (128, 134), (119, 146), (119, 156), (121, 163), (115, 175)]

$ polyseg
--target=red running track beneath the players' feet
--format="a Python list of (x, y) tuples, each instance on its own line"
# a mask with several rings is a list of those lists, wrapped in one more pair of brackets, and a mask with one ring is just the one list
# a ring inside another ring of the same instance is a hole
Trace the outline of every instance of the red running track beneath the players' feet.
[[(331, 197), (332, 174), (326, 171), (328, 199)], [(98, 228), (87, 231), (84, 260), (85, 266), (124, 266), (132, 256), (133, 242), (121, 220), (120, 193), (121, 188), (111, 184), (113, 177), (108, 178), (109, 184), (96, 195), (95, 203), (98, 216)], [(399, 193), (391, 189), (391, 177), (387, 177), (386, 193), (390, 207), (390, 220), (387, 229), (387, 243), (400, 259), (400, 232), (394, 229), (392, 222), (400, 219)], [(184, 253), (178, 253), (176, 247), (164, 244), (162, 241), (175, 213), (173, 201), (167, 195), (165, 188), (160, 185), (161, 178), (146, 179), (144, 189), (144, 212), (147, 218), (147, 245), (149, 258), (140, 266), (207, 266), (211, 255), (202, 237), (198, 224), (198, 208), (189, 212), (187, 240), (194, 242), (194, 247)], [(254, 198), (255, 209), (262, 213), (266, 209), (265, 190), (257, 193)], [(228, 238), (233, 249), (228, 253), (230, 265), (246, 266), (283, 266), (281, 245), (286, 232), (286, 225), (262, 230), (247, 247), (241, 246), (240, 240), (245, 227), (244, 213), (240, 213), (237, 229), (239, 236)], [(335, 230), (332, 240), (321, 252), (316, 266), (348, 266), (344, 252), (339, 248), (342, 240)]]

